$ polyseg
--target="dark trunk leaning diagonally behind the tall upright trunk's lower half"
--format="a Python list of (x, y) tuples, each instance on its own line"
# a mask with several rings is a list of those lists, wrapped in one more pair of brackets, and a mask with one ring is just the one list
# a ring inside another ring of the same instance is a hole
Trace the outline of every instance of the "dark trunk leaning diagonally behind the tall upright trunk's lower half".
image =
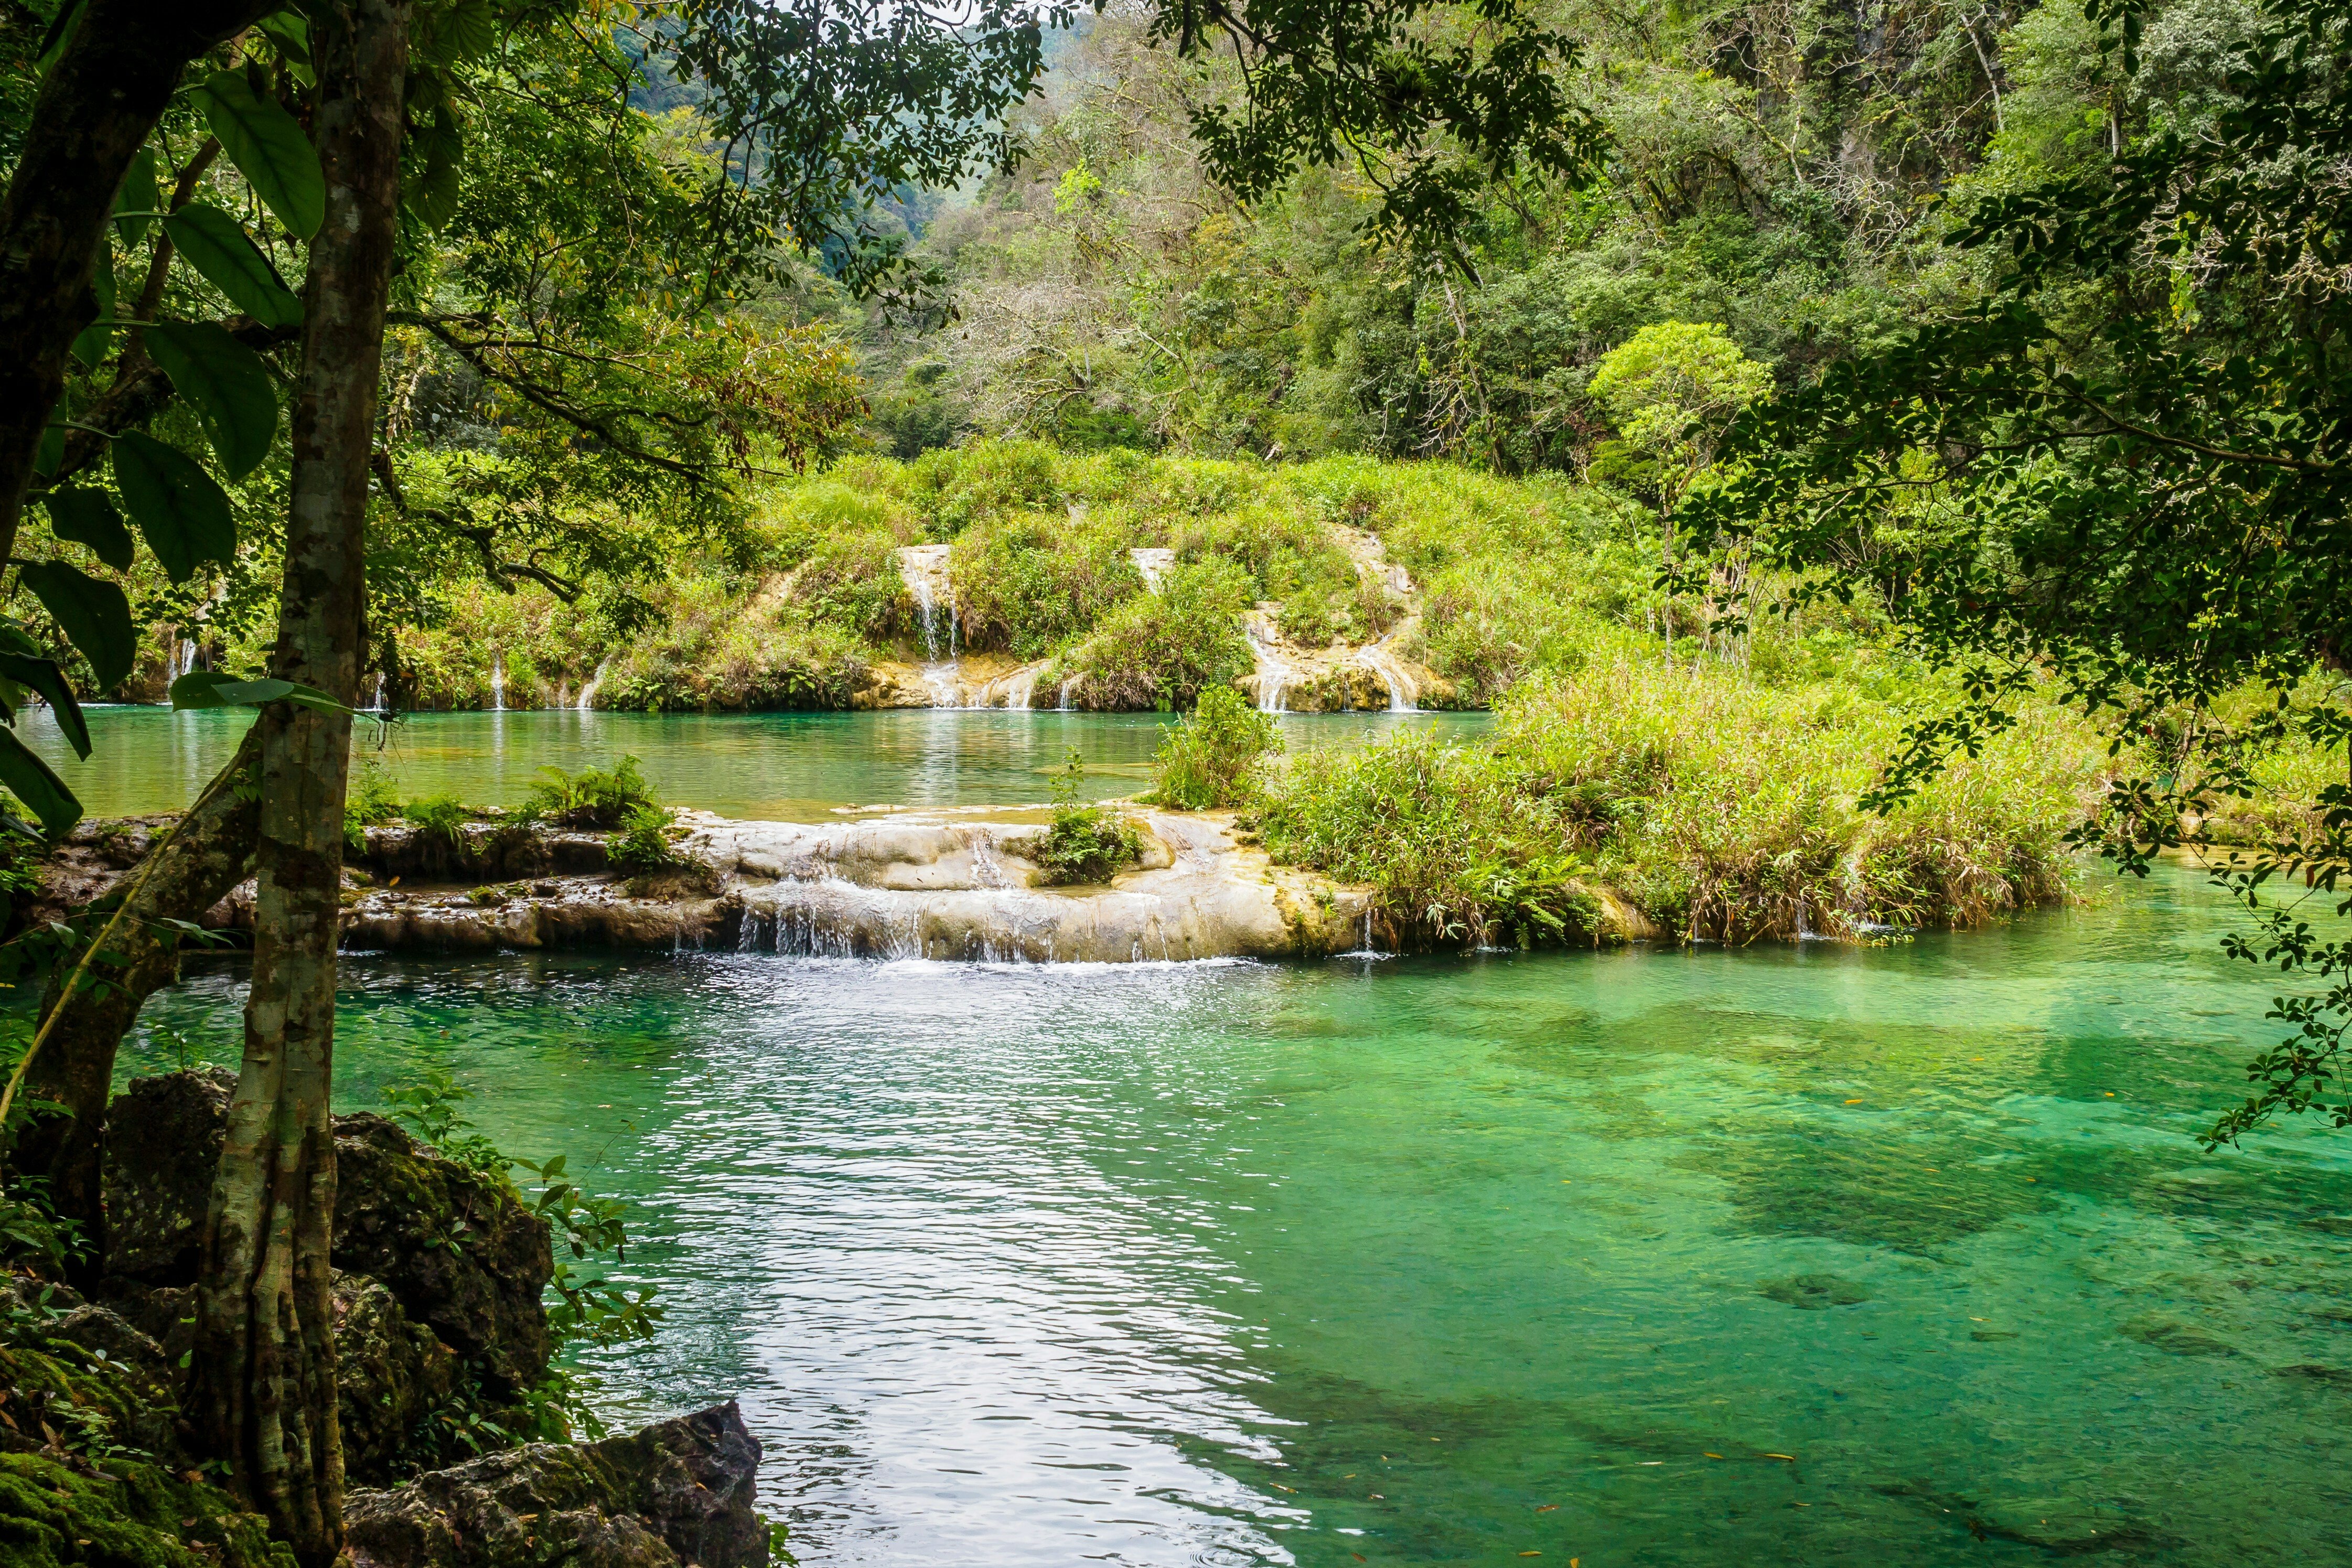
[[(99, 1154), (103, 1152), (106, 1093), (115, 1079), (115, 1048), (139, 1018), (139, 1009), (179, 973), (179, 940), (155, 933), (165, 919), (198, 919), (245, 882), (254, 856), (259, 802), (252, 788), (261, 757), (259, 733), (228, 759), (167, 842), (122, 879), (134, 889), (122, 922), (108, 938), (120, 964), (92, 961), (103, 990), (78, 990), (49, 1025), (40, 1056), (24, 1077), (24, 1093), (64, 1105), (64, 1117), (45, 1117), (24, 1128), (9, 1164), (21, 1175), (42, 1175), (56, 1211), (82, 1227), (89, 1241), (75, 1274), (96, 1276), (106, 1260), (106, 1208), (99, 1201)], [(40, 1016), (56, 1013), (56, 985), (40, 999)]]

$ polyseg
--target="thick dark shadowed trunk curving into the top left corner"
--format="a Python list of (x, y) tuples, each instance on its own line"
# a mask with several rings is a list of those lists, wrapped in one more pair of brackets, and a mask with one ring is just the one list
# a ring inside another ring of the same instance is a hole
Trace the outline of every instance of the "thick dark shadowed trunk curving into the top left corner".
[(89, 275), (106, 254), (122, 172), (188, 61), (273, 9), (280, 0), (89, 0), (40, 80), (0, 197), (0, 559), (16, 550), (66, 350), (96, 320)]

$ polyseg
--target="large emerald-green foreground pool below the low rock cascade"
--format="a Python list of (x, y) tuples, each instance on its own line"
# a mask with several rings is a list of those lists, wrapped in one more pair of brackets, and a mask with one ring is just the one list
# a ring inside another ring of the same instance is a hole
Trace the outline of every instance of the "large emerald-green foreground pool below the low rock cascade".
[[(2347, 1563), (2352, 1135), (2190, 1140), (2270, 1027), (2227, 919), (353, 959), (339, 1074), (637, 1199), (673, 1316), (595, 1371), (739, 1394), (804, 1563)], [(238, 978), (151, 1018), (230, 1056)]]

